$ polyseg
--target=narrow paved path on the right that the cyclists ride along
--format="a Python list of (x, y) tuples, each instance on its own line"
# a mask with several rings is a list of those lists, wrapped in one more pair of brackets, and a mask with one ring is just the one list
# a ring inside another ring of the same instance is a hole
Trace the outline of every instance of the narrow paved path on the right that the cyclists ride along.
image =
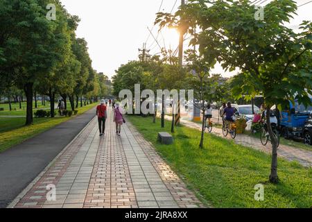
[[(166, 119), (171, 120), (171, 117), (166, 116)], [(193, 123), (192, 121), (188, 121), (186, 119), (182, 119), (181, 123), (184, 126), (187, 126), (189, 128), (195, 128), (198, 130), (201, 130), (202, 128), (200, 124)], [(211, 133), (214, 133), (214, 135), (217, 135), (218, 137), (223, 137), (222, 130), (219, 128), (213, 128)], [(226, 138), (232, 139), (229, 135)], [(250, 137), (248, 135), (244, 135), (244, 134), (236, 135), (234, 142), (236, 142), (236, 144), (241, 144), (243, 146), (254, 148), (258, 151), (263, 151), (269, 154), (272, 153), (272, 148), (270, 146), (270, 143), (268, 143), (266, 146), (263, 146), (261, 144), (260, 139)], [(291, 146), (280, 144), (277, 153), (279, 157), (283, 157), (286, 160), (297, 161), (300, 164), (302, 164), (304, 167), (312, 167), (312, 152), (311, 151), (306, 151), (300, 148), (293, 148)]]

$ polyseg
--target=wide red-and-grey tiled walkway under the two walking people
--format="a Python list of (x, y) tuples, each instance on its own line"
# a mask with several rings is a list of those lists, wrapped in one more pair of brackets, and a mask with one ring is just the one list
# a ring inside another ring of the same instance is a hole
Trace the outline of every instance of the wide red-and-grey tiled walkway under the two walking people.
[(94, 118), (9, 207), (204, 207), (130, 123), (117, 136), (110, 111), (106, 127)]

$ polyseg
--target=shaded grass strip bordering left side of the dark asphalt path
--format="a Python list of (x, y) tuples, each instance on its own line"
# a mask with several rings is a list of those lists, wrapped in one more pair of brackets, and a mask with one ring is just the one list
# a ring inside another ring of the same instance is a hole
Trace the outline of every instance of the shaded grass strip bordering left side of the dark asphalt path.
[[(78, 114), (94, 108), (97, 103), (78, 108)], [(32, 126), (24, 126), (25, 118), (0, 117), (0, 153), (73, 117), (34, 118)]]

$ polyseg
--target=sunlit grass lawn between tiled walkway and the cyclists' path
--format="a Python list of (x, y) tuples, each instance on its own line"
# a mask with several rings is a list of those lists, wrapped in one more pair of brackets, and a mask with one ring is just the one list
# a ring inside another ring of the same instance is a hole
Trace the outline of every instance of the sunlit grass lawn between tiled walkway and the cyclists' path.
[[(205, 134), (205, 148), (198, 147), (200, 132), (184, 126), (175, 128), (174, 144), (157, 142), (157, 133), (170, 133), (171, 122), (160, 128), (160, 120), (127, 117), (173, 170), (185, 178), (190, 189), (213, 207), (311, 207), (312, 169), (279, 158), (278, 185), (268, 182), (270, 155)], [(254, 186), (263, 184), (264, 201), (254, 200)]]

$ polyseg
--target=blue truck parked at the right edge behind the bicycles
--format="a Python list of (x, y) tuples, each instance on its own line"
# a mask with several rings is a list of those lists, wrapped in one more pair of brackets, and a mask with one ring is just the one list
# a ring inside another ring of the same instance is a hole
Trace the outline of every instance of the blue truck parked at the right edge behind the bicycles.
[[(310, 96), (312, 102), (312, 96)], [(281, 111), (280, 129), (281, 136), (285, 139), (293, 137), (308, 138), (311, 141), (311, 130), (309, 130), (309, 120), (312, 114), (312, 106), (305, 107), (295, 101), (295, 104), (289, 103), (289, 107)], [(304, 139), (309, 144), (309, 139)], [(311, 143), (311, 142), (310, 142)], [(312, 144), (310, 144), (312, 145)]]

